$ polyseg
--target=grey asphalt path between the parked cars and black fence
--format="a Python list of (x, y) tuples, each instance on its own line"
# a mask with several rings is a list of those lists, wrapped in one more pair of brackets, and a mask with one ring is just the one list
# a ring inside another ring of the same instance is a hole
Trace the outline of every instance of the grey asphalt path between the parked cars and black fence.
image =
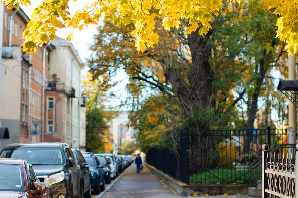
[(136, 165), (131, 165), (102, 198), (177, 198), (148, 169), (136, 173)]

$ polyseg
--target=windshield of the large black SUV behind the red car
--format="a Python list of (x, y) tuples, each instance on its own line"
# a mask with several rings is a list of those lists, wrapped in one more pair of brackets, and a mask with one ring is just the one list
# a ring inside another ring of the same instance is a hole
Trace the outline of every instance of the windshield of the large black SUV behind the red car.
[(61, 165), (62, 153), (59, 148), (16, 147), (2, 151), (0, 158), (24, 159), (32, 165)]

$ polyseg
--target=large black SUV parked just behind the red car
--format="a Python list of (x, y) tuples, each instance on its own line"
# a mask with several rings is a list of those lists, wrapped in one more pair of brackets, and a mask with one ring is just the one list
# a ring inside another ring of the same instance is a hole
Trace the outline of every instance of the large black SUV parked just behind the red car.
[(50, 197), (82, 197), (81, 172), (66, 143), (15, 143), (5, 146), (0, 158), (24, 159), (38, 179), (49, 187)]

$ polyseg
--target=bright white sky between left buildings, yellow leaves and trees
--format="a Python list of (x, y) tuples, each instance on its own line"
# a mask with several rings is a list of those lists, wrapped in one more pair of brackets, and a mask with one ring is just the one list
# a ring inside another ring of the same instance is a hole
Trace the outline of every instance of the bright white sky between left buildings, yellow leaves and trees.
[[(41, 1), (42, 0), (31, 1), (30, 6), (21, 6), (21, 8), (30, 17), (34, 9), (37, 7), (37, 5), (41, 3)], [(71, 14), (74, 14), (76, 10), (81, 9), (84, 6), (85, 6), (85, 3), (82, 3), (82, 1), (77, 1), (77, 2), (70, 1), (69, 12)], [(102, 24), (103, 22), (101, 22), (99, 25), (102, 25)], [(72, 28), (59, 29), (57, 31), (57, 36), (61, 38), (67, 38), (67, 36), (71, 31), (72, 31)], [(82, 31), (78, 31), (78, 30), (73, 31), (73, 39), (71, 40), (71, 42), (78, 50), (79, 56), (84, 63), (86, 63), (86, 59), (89, 58), (92, 54), (92, 52), (89, 50), (89, 44), (93, 43), (94, 41), (93, 36), (94, 34), (96, 34), (96, 32), (97, 32), (96, 25), (90, 25), (88, 27), (84, 27)], [(87, 72), (88, 69), (89, 68), (86, 68), (82, 72), (82, 75), (84, 75), (84, 72)], [(128, 83), (128, 76), (125, 74), (123, 70), (120, 70), (117, 72), (115, 79), (117, 80), (121, 79), (122, 81), (121, 83), (119, 83), (119, 85), (111, 89), (111, 92), (116, 95), (116, 96), (111, 96), (110, 101), (108, 101), (106, 104), (107, 106), (111, 106), (111, 107), (119, 106), (121, 101), (124, 101), (127, 97), (125, 85)], [(126, 109), (124, 108), (122, 110), (126, 110)]]

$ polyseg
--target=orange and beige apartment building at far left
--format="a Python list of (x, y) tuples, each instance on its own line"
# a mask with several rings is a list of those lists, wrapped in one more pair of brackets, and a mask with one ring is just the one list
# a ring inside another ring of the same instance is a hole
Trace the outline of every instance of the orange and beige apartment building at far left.
[[(13, 142), (41, 141), (43, 74), (49, 60), (45, 47), (38, 47), (35, 54), (23, 53), (22, 33), (30, 20), (25, 12), (5, 7), (3, 14), (1, 115), (2, 127), (9, 129), (10, 139), (4, 140), (1, 147)], [(37, 133), (32, 121), (37, 124)]]

